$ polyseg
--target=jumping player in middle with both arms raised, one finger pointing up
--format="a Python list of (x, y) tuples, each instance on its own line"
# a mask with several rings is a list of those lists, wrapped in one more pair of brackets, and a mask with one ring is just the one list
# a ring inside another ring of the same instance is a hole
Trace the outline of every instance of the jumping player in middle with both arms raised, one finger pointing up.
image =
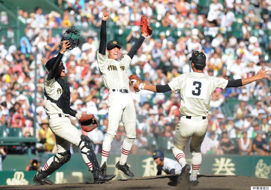
[[(101, 21), (101, 41), (97, 52), (97, 60), (105, 87), (109, 90), (108, 97), (108, 129), (102, 145), (101, 164), (106, 163), (111, 149), (111, 143), (117, 134), (119, 122), (122, 119), (125, 128), (125, 139), (123, 141), (120, 160), (116, 168), (123, 171), (127, 176), (134, 176), (126, 164), (128, 154), (136, 138), (136, 109), (129, 90), (127, 70), (133, 56), (140, 48), (145, 37), (150, 33), (144, 32), (139, 40), (132, 46), (127, 55), (120, 58), (120, 42), (111, 40), (106, 44), (106, 23), (111, 13), (103, 13)], [(120, 59), (119, 59), (120, 58)], [(106, 173), (106, 167), (102, 171)]]

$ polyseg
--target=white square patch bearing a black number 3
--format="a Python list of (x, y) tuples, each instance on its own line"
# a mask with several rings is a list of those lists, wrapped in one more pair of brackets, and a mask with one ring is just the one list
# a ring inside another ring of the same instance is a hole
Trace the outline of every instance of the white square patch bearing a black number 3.
[(185, 97), (206, 99), (208, 93), (208, 81), (188, 78), (186, 80)]

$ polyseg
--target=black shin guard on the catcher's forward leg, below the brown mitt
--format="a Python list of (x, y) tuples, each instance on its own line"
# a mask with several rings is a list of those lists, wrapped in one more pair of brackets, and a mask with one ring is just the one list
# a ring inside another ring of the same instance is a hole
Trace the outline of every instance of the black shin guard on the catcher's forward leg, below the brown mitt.
[[(88, 136), (81, 135), (81, 141), (79, 143), (79, 147), (82, 143), (84, 143), (84, 145), (80, 148), (81, 153), (86, 154), (87, 158), (92, 163), (92, 168), (93, 168), (91, 171), (92, 175), (94, 178), (98, 178), (100, 175), (100, 166), (99, 166), (99, 163), (96, 159), (96, 155), (95, 155), (93, 147), (92, 147), (92, 141), (90, 140), (90, 138)], [(83, 152), (82, 150), (84, 147), (86, 147), (89, 150), (87, 152)]]

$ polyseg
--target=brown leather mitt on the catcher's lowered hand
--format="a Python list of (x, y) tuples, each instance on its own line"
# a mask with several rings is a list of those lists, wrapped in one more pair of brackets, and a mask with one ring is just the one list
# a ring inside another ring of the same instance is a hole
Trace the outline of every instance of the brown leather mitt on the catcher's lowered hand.
[(83, 131), (90, 132), (93, 129), (99, 126), (98, 119), (93, 116), (93, 114), (82, 114), (81, 118), (79, 119), (81, 128)]

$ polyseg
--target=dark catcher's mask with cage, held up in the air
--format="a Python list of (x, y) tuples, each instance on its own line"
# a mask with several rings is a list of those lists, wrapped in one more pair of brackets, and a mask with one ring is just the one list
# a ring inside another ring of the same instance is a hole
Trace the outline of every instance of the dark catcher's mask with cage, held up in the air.
[(64, 40), (69, 40), (70, 47), (68, 47), (66, 51), (70, 51), (79, 45), (81, 35), (78, 34), (78, 30), (75, 27), (69, 27), (68, 30), (62, 34), (61, 43), (63, 43)]

